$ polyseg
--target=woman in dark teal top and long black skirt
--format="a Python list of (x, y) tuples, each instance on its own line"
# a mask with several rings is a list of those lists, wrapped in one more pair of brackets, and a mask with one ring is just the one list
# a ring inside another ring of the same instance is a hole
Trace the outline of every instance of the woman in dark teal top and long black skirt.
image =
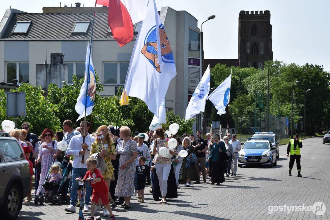
[(216, 185), (218, 186), (220, 185), (220, 183), (223, 183), (225, 181), (225, 177), (223, 176), (222, 154), (226, 152), (227, 149), (225, 147), (225, 144), (220, 141), (220, 136), (218, 134), (215, 134), (214, 143), (211, 146), (211, 152), (208, 158), (208, 161), (212, 161), (212, 185), (214, 185), (214, 183), (216, 182)]

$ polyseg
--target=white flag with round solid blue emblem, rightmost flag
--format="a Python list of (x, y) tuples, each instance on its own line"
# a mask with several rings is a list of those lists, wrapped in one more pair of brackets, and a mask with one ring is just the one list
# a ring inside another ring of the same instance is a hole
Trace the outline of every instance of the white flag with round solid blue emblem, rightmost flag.
[(231, 74), (210, 95), (209, 100), (213, 103), (218, 114), (226, 113), (226, 106), (230, 100)]

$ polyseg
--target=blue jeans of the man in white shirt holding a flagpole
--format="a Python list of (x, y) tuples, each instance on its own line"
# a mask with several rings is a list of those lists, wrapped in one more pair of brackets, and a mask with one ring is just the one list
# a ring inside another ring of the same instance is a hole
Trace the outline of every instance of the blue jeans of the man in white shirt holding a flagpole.
[[(83, 178), (86, 173), (87, 173), (87, 168), (72, 169), (72, 185), (71, 185), (71, 200), (70, 200), (70, 204), (72, 205), (76, 205), (77, 203), (78, 181), (76, 181), (76, 178), (78, 177)], [(86, 189), (85, 204), (89, 205), (90, 196), (92, 194), (92, 187), (90, 186), (89, 182), (85, 182), (85, 189)]]

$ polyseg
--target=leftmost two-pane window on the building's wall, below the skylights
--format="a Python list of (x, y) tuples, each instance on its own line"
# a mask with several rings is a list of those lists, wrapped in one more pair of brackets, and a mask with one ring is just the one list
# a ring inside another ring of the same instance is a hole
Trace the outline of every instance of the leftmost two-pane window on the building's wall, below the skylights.
[(29, 63), (8, 62), (7, 63), (7, 83), (12, 83), (14, 79), (17, 83), (29, 83)]

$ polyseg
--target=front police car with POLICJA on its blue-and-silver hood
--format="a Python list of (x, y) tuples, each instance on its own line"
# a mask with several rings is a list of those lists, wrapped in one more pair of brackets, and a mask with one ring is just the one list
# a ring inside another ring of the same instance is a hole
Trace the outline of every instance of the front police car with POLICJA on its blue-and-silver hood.
[(248, 138), (238, 154), (238, 167), (261, 164), (268, 167), (277, 165), (276, 147), (269, 138)]

